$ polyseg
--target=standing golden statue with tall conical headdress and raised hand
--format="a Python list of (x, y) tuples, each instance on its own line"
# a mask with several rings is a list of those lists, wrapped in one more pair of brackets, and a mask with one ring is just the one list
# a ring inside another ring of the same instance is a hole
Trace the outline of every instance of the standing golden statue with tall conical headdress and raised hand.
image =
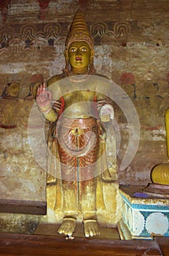
[[(71, 236), (76, 218), (82, 213), (84, 235), (98, 236), (96, 210), (98, 205), (103, 206), (101, 184), (117, 181), (116, 143), (110, 127), (114, 109), (111, 99), (103, 94), (106, 83), (101, 78), (105, 77), (95, 73), (93, 39), (80, 11), (76, 12), (71, 25), (64, 54), (63, 74), (50, 78), (47, 89), (44, 83), (39, 86), (36, 97), (39, 109), (50, 121), (48, 147), (60, 162), (60, 166), (55, 167), (48, 156), (48, 184), (55, 180), (52, 168), (57, 172), (60, 168), (57, 184), (60, 182), (62, 192), (60, 195), (57, 190), (55, 208), (62, 207), (64, 217), (58, 233)], [(110, 136), (106, 135), (105, 127), (111, 132)], [(113, 141), (112, 145), (108, 138)], [(104, 153), (107, 159), (102, 157), (99, 162)], [(50, 205), (52, 198), (48, 200)]]

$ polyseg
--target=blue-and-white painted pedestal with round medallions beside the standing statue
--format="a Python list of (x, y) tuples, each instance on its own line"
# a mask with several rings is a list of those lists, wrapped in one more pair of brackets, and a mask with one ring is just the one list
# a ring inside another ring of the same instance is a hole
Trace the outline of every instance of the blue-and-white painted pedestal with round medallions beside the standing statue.
[(144, 187), (119, 188), (122, 197), (122, 219), (119, 232), (122, 239), (169, 236), (169, 200), (143, 192)]

